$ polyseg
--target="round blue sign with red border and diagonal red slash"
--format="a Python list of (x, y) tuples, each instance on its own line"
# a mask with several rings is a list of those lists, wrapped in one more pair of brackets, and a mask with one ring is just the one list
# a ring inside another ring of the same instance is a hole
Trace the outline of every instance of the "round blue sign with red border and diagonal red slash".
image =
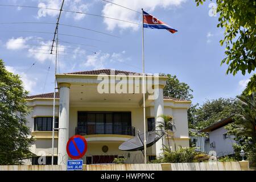
[(66, 149), (71, 159), (80, 159), (87, 151), (87, 142), (81, 135), (74, 135), (68, 140)]

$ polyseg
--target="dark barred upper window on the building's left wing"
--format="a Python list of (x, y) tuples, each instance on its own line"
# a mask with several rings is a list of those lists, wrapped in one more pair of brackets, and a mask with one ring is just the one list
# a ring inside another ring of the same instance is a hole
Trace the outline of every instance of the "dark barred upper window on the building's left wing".
[[(59, 118), (55, 118), (54, 127), (59, 127)], [(52, 117), (34, 118), (34, 131), (52, 131)]]

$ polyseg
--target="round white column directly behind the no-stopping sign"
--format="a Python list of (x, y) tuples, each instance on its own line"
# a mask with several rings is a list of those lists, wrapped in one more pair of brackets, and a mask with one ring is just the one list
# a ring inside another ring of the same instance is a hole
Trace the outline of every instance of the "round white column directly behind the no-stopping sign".
[(59, 84), (60, 106), (59, 106), (59, 138), (58, 138), (58, 165), (67, 165), (68, 154), (66, 146), (68, 142), (69, 125), (69, 86), (70, 84)]

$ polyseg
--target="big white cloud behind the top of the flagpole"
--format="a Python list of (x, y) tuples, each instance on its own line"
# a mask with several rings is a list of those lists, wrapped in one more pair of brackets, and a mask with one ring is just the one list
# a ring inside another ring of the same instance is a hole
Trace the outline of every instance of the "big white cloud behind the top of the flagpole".
[[(112, 0), (111, 2), (117, 3), (119, 5), (129, 7), (130, 9), (141, 11), (143, 7), (146, 11), (154, 11), (156, 7), (162, 7), (164, 9), (170, 7), (178, 7), (181, 3), (187, 0)], [(131, 10), (124, 9), (123, 7), (119, 7), (113, 5), (112, 3), (106, 3), (104, 9), (102, 10), (102, 15), (110, 16), (113, 18), (118, 17), (119, 19), (129, 20), (130, 22), (141, 23), (141, 14), (135, 13)], [(112, 31), (115, 28), (132, 28), (133, 30), (138, 30), (139, 26), (137, 24), (131, 24), (126, 22), (120, 22), (117, 20), (104, 18), (104, 23), (106, 23), (108, 30)]]

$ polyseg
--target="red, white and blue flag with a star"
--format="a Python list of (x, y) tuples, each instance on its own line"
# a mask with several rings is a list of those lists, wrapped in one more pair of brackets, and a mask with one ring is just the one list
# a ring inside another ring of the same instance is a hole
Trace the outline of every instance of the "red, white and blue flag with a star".
[(174, 28), (168, 26), (168, 24), (162, 22), (161, 20), (155, 18), (154, 16), (143, 11), (143, 27), (144, 28), (156, 28), (156, 29), (166, 29), (172, 34), (177, 32)]

